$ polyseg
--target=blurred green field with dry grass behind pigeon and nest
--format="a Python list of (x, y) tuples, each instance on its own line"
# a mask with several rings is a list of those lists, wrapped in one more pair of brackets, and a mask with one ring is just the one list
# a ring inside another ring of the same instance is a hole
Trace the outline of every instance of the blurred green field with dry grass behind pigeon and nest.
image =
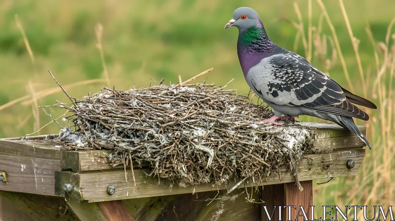
[[(55, 99), (67, 101), (47, 70), (51, 70), (62, 85), (70, 84), (65, 87), (75, 97), (97, 92), (102, 85), (115, 84), (118, 89), (127, 89), (136, 83), (136, 87), (147, 87), (155, 83), (150, 78), (176, 82), (178, 75), (187, 79), (211, 67), (214, 71), (205, 75), (207, 82), (224, 85), (235, 78), (228, 87), (239, 93), (248, 92), (237, 60), (237, 28), (223, 28), (234, 9), (250, 6), (258, 11), (274, 42), (296, 49), (294, 51), (303, 56), (309, 55), (312, 48), (313, 65), (379, 106), (379, 110), (371, 111), (372, 118), (366, 124), (372, 151), (367, 151), (359, 175), (315, 185), (316, 206), (391, 205), (395, 202), (392, 184), (395, 181), (392, 178), (395, 169), (392, 160), (395, 28), (388, 35), (387, 29), (395, 16), (395, 1), (344, 2), (357, 39), (363, 80), (339, 1), (323, 2), (336, 30), (350, 81), (345, 77), (335, 38), (322, 16), (319, 0), (312, 0), (312, 47), (308, 34), (308, 0), (295, 2), (301, 12), (305, 38), (292, 23), (298, 24), (299, 18), (290, 0), (2, 0), (0, 137), (24, 136), (36, 131), (49, 122), (38, 105), (53, 104)], [(97, 23), (102, 25), (102, 30)], [(30, 53), (21, 30), (29, 42)], [(371, 30), (373, 41), (366, 30)], [(97, 45), (100, 33), (99, 48), (102, 46), (104, 63)], [(295, 38), (299, 39), (296, 44)], [(76, 82), (79, 83), (73, 84)], [(55, 109), (50, 112), (53, 116), (62, 114)], [(318, 121), (309, 117), (301, 119)], [(58, 126), (50, 124), (38, 134), (57, 131)]]

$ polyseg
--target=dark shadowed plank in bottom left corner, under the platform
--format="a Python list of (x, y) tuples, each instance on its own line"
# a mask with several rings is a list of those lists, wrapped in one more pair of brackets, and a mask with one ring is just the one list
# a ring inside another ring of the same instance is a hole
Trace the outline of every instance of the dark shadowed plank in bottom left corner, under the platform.
[(0, 191), (1, 221), (79, 221), (63, 198)]

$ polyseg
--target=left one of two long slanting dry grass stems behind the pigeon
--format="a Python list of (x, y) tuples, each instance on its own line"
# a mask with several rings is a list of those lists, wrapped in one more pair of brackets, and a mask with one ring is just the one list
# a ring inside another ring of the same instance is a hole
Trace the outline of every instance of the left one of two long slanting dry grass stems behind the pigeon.
[(339, 43), (339, 39), (338, 39), (337, 34), (336, 34), (335, 27), (333, 27), (333, 24), (332, 24), (332, 22), (331, 22), (331, 20), (329, 18), (328, 12), (326, 11), (325, 5), (322, 3), (322, 0), (316, 0), (316, 1), (318, 3), (319, 7), (322, 10), (322, 13), (323, 13), (323, 15), (324, 15), (324, 17), (326, 19), (326, 22), (328, 23), (329, 29), (330, 29), (330, 31), (332, 33), (333, 40), (335, 41), (336, 50), (338, 52), (338, 55), (339, 55), (339, 58), (340, 58), (340, 62), (342, 63), (344, 76), (346, 77), (347, 84), (348, 84), (348, 86), (350, 88), (350, 91), (355, 93), (355, 89), (354, 89), (353, 83), (351, 82), (351, 79), (350, 79), (350, 74), (349, 74), (349, 72), (347, 70), (346, 61), (344, 60), (343, 53), (342, 53), (342, 50), (340, 48), (340, 43)]

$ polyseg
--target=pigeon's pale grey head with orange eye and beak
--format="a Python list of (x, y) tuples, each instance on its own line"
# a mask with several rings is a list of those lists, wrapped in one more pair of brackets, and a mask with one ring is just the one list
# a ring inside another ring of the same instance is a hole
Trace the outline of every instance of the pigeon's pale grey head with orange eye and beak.
[(257, 24), (260, 20), (258, 13), (249, 7), (240, 7), (233, 12), (233, 19), (226, 25), (225, 29), (236, 26), (238, 29), (248, 29)]

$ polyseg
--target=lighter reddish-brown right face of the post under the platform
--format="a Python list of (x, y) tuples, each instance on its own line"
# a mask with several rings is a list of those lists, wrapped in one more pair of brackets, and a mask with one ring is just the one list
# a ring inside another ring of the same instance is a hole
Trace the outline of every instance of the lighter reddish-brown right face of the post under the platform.
[[(296, 209), (290, 208), (291, 210), (291, 217), (286, 218), (283, 220), (296, 220), (296, 217), (299, 212), (299, 208), (303, 206), (305, 213), (310, 219), (311, 217), (311, 207), (313, 204), (313, 181), (303, 181), (300, 182), (300, 184), (303, 186), (303, 191), (299, 191), (298, 187), (295, 184), (288, 183), (284, 184), (285, 186), (285, 204), (287, 206), (296, 206)], [(287, 209), (288, 211), (288, 209)], [(285, 213), (285, 210), (283, 211)], [(288, 216), (288, 212), (286, 213)], [(303, 215), (303, 212), (300, 213), (300, 215)], [(304, 217), (298, 217), (298, 221), (305, 221)]]

